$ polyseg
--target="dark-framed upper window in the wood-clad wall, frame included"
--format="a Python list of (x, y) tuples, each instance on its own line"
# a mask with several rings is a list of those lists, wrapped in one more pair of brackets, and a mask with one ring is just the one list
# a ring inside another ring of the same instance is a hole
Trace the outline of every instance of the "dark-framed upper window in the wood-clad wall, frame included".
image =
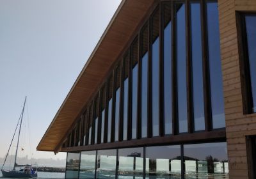
[(243, 33), (239, 36), (239, 55), (244, 113), (256, 113), (256, 13), (241, 13), (237, 17), (241, 20), (238, 29)]

